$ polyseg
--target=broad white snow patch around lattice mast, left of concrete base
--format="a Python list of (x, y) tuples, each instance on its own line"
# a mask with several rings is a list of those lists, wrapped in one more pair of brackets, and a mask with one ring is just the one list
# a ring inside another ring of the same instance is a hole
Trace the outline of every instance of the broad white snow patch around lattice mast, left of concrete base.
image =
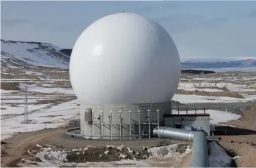
[[(30, 110), (31, 105), (28, 105)], [(2, 110), (1, 110), (2, 112)], [(23, 108), (20, 108), (20, 113)], [(41, 108), (37, 112), (32, 112), (29, 115), (31, 124), (22, 124), (23, 115), (17, 115), (9, 118), (1, 119), (1, 140), (11, 138), (18, 132), (39, 131), (45, 128), (61, 127), (69, 122), (70, 119), (77, 119), (79, 107), (77, 100), (65, 102), (48, 109)], [(49, 117), (51, 116), (51, 117)], [(46, 123), (45, 122), (50, 122)]]

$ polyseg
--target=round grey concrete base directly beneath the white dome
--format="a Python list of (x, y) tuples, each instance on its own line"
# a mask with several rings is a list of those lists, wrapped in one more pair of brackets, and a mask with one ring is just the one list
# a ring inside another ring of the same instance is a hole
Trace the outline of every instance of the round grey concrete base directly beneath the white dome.
[(101, 139), (151, 138), (151, 131), (162, 126), (163, 116), (171, 111), (171, 102), (80, 105), (81, 134)]

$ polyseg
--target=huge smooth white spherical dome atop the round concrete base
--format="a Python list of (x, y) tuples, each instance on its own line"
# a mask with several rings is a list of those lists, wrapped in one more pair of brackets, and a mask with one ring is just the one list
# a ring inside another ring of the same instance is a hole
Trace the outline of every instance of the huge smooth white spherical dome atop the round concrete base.
[(84, 104), (170, 101), (179, 84), (177, 47), (158, 23), (134, 13), (107, 15), (87, 27), (70, 58), (70, 79)]

